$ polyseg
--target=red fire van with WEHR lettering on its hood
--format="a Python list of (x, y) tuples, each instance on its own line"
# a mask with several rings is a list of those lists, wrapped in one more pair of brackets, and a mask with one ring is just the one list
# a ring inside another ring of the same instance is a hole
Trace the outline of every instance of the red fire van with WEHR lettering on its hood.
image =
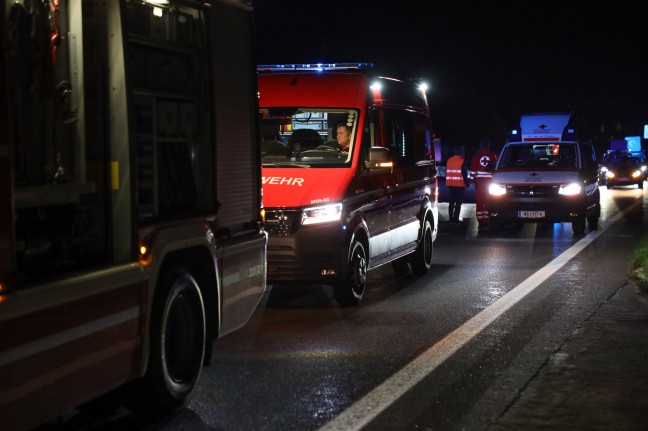
[(332, 285), (349, 306), (372, 268), (427, 272), (438, 212), (424, 89), (366, 64), (257, 70), (268, 283)]

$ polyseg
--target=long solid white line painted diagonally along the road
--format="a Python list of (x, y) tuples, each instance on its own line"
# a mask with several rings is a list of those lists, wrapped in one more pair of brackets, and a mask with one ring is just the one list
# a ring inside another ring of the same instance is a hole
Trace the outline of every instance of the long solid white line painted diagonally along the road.
[(409, 391), (439, 365), (445, 362), (455, 352), (476, 337), (488, 325), (504, 314), (526, 295), (533, 292), (547, 278), (562, 268), (573, 257), (580, 253), (592, 241), (598, 238), (610, 226), (616, 223), (626, 213), (641, 204), (635, 202), (622, 212), (610, 218), (604, 227), (590, 232), (576, 244), (549, 262), (543, 268), (517, 285), (506, 295), (502, 296), (488, 308), (485, 308), (466, 323), (452, 331), (441, 341), (423, 352), (396, 374), (385, 380), (381, 385), (356, 401), (340, 415), (325, 424), (320, 431), (360, 430), (374, 420), (380, 413), (393, 404), (398, 398)]

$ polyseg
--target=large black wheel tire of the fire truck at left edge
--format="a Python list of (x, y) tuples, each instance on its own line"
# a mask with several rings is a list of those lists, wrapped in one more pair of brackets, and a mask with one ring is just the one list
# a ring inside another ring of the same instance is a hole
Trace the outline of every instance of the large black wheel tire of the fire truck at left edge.
[(194, 277), (182, 270), (168, 271), (158, 288), (147, 371), (126, 396), (129, 409), (154, 417), (177, 411), (191, 399), (207, 337), (202, 292)]

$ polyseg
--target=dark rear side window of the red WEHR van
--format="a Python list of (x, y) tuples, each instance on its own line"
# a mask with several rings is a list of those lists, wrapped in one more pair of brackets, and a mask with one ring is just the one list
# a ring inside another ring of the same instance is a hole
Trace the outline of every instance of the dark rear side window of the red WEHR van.
[(429, 158), (430, 127), (427, 117), (415, 112), (387, 109), (384, 111), (386, 145), (397, 166), (414, 166)]

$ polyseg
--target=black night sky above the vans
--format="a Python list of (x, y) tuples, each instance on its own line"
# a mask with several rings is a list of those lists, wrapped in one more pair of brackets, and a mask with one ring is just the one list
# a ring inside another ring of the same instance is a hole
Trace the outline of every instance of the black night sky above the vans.
[(259, 63), (371, 62), (428, 81), (445, 141), (503, 142), (527, 112), (590, 135), (648, 123), (648, 1), (255, 0)]

